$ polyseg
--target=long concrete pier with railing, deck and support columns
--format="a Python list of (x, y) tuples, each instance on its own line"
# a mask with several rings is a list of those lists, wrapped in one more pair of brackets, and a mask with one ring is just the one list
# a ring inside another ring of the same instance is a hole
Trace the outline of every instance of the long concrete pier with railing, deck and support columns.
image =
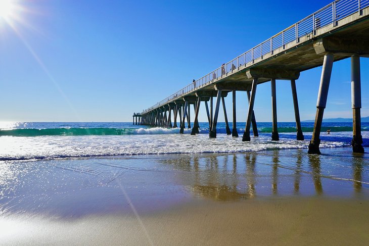
[[(199, 132), (200, 104), (205, 102), (210, 129), (209, 136), (216, 137), (219, 106), (222, 102), (227, 134), (231, 134), (226, 117), (224, 97), (227, 96), (228, 92), (232, 92), (233, 126), (236, 126), (236, 91), (247, 91), (249, 109), (242, 140), (249, 141), (251, 125), (254, 135), (257, 136), (253, 111), (257, 85), (270, 81), (272, 140), (278, 140), (275, 80), (291, 80), (297, 139), (303, 140), (296, 80), (299, 78), (300, 72), (322, 66), (314, 132), (308, 151), (310, 154), (320, 154), (320, 127), (327, 103), (332, 65), (335, 61), (351, 58), (352, 148), (353, 152), (363, 153), (360, 131), (360, 57), (369, 57), (369, 0), (337, 0), (143, 111), (140, 114), (139, 123), (178, 127), (177, 118), (179, 117), (180, 133), (183, 133), (186, 119), (190, 126), (189, 109), (191, 105), (194, 105), (195, 120), (191, 134), (197, 134)], [(213, 97), (216, 97), (214, 108)], [(238, 136), (236, 129), (233, 129), (232, 135)]]

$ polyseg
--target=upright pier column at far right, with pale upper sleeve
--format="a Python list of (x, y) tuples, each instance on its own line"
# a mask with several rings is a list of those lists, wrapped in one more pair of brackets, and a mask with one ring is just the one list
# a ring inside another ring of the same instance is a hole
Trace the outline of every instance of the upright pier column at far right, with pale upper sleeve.
[(352, 103), (352, 129), (351, 141), (352, 152), (364, 153), (361, 136), (361, 79), (360, 79), (360, 57), (351, 56), (351, 103)]

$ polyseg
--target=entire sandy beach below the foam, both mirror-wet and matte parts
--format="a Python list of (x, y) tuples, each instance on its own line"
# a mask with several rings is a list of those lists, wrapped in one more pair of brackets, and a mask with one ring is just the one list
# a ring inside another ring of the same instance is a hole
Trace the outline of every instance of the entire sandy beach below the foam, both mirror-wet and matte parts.
[(0, 244), (367, 245), (368, 156), (322, 153), (3, 162)]

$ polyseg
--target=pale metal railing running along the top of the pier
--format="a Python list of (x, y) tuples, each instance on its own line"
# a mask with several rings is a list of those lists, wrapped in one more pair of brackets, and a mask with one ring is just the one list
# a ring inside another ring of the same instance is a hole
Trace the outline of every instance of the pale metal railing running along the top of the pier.
[(360, 14), (360, 11), (366, 7), (369, 7), (369, 0), (337, 0), (295, 23), (294, 25), (286, 28), (285, 30), (275, 34), (264, 42), (256, 45), (255, 47), (251, 48), (251, 50), (241, 54), (232, 61), (221, 65), (219, 68), (199, 78), (195, 82), (178, 90), (161, 102), (155, 104), (147, 110), (144, 110), (142, 114), (172, 102), (204, 85), (211, 84), (222, 76), (227, 75), (227, 73), (239, 70), (247, 63), (262, 58), (266, 54), (272, 53), (276, 49), (285, 46), (289, 42), (298, 42), (300, 37), (311, 34), (318, 28), (328, 25), (335, 26), (337, 21), (355, 12)]

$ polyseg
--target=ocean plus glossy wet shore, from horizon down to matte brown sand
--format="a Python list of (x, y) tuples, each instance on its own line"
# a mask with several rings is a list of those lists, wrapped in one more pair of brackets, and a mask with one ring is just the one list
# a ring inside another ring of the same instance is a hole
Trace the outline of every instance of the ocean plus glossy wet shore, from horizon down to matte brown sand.
[[(4, 216), (80, 218), (90, 214), (166, 210), (194, 200), (239, 201), (271, 196), (369, 198), (367, 153), (352, 154), (351, 123), (327, 123), (322, 155), (307, 155), (313, 123), (258, 123), (242, 142), (219, 123), (209, 138), (191, 129), (132, 123), (3, 123), (0, 130), (0, 222)], [(362, 125), (364, 149), (369, 125)], [(134, 206), (134, 207), (133, 207)]]

